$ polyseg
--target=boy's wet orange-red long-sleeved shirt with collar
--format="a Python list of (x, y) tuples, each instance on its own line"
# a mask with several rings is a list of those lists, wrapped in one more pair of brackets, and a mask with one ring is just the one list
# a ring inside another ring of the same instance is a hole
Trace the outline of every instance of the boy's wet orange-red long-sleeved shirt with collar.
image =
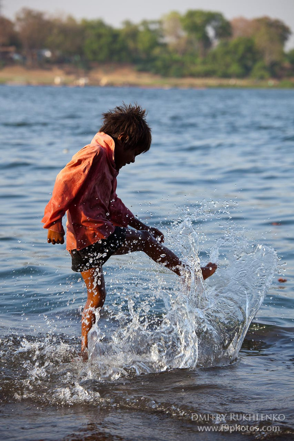
[(58, 173), (45, 214), (44, 228), (64, 233), (67, 249), (81, 249), (108, 237), (115, 226), (127, 226), (134, 215), (116, 194), (114, 140), (98, 132)]

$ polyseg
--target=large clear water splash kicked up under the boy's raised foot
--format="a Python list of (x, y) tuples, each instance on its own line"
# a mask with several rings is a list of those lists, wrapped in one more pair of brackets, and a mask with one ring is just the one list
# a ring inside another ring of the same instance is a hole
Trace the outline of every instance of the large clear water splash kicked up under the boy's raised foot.
[[(172, 238), (173, 248), (192, 270), (191, 284), (178, 280), (168, 289), (158, 275), (148, 298), (123, 292), (126, 305), (112, 313), (118, 326), (103, 332), (97, 315), (88, 336), (88, 378), (221, 366), (237, 358), (274, 275), (275, 251), (249, 245), (226, 229), (210, 252), (219, 270), (203, 283), (192, 221), (179, 223)], [(164, 305), (161, 313), (158, 300)]]

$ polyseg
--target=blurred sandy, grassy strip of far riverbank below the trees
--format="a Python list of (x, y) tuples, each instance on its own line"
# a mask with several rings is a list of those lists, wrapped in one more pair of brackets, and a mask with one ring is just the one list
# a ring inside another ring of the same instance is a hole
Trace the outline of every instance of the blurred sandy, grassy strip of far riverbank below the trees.
[(0, 84), (55, 86), (129, 86), (146, 88), (203, 89), (210, 87), (294, 88), (294, 78), (282, 80), (251, 78), (174, 78), (138, 72), (131, 66), (103, 65), (90, 71), (72, 66), (26, 69), (7, 66), (0, 70)]

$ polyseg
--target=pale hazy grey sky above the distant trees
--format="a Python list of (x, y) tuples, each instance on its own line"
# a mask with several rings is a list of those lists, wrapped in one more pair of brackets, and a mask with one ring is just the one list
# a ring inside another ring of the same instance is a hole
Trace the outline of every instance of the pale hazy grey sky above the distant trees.
[[(0, 0), (0, 4), (2, 14), (10, 19), (18, 10), (28, 7), (58, 15), (71, 14), (77, 19), (101, 18), (117, 27), (126, 19), (139, 23), (143, 19), (159, 19), (170, 11), (184, 13), (188, 9), (218, 11), (228, 20), (267, 15), (282, 20), (294, 33), (294, 0)], [(294, 34), (286, 48), (294, 48)]]

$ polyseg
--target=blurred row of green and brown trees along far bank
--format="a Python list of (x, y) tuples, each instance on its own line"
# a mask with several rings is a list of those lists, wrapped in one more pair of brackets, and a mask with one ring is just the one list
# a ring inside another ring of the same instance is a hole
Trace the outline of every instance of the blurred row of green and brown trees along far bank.
[(15, 46), (31, 66), (49, 49), (48, 62), (131, 63), (171, 76), (267, 78), (294, 75), (293, 53), (284, 53), (290, 29), (269, 17), (227, 21), (220, 12), (172, 11), (161, 20), (120, 28), (101, 19), (49, 17), (23, 8), (15, 22), (0, 17), (0, 45)]

